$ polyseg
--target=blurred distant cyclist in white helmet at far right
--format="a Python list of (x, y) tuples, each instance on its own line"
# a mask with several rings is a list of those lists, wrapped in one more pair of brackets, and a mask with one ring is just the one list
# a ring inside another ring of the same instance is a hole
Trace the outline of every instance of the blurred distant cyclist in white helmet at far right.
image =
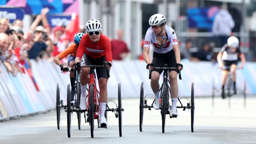
[(224, 46), (221, 48), (218, 56), (217, 61), (219, 63), (219, 68), (223, 69), (226, 66), (230, 66), (230, 69), (224, 69), (222, 71), (222, 93), (221, 97), (224, 99), (224, 85), (226, 83), (227, 77), (228, 77), (228, 71), (230, 71), (233, 75), (233, 82), (234, 82), (234, 94), (236, 94), (236, 66), (238, 63), (238, 56), (241, 60), (241, 65), (239, 68), (244, 68), (245, 64), (245, 56), (240, 51), (239, 48), (239, 40), (235, 36), (230, 36), (228, 38), (228, 43), (224, 44)]

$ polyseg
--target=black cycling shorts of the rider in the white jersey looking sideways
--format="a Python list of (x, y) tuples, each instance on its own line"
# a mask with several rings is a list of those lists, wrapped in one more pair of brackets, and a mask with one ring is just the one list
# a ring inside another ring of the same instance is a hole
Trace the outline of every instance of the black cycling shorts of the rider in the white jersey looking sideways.
[[(165, 63), (168, 63), (168, 68), (175, 68), (176, 67), (176, 57), (175, 52), (172, 49), (170, 52), (167, 53), (156, 53), (153, 52), (153, 60), (152, 63), (154, 64), (154, 67), (164, 67)], [(152, 72), (156, 71), (159, 74), (161, 74), (164, 69), (152, 69)], [(169, 72), (176, 71), (178, 73), (177, 69), (169, 69)]]

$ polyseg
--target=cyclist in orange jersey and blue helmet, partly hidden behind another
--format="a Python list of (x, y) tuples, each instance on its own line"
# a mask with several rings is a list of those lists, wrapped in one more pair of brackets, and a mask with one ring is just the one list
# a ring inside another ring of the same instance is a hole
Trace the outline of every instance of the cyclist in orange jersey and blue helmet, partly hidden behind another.
[[(69, 68), (62, 64), (60, 60), (62, 60), (64, 57), (68, 56), (71, 54), (68, 58), (68, 66), (72, 67), (72, 65), (75, 63), (75, 58), (76, 58), (76, 52), (78, 49), (78, 46), (80, 44), (80, 40), (84, 36), (84, 33), (77, 33), (74, 37), (74, 43), (71, 44), (68, 48), (66, 48), (63, 52), (61, 52), (59, 55), (54, 57), (54, 62), (55, 64), (60, 66), (61, 71), (68, 71)], [(73, 72), (70, 72), (70, 84), (71, 84), (71, 101), (74, 100), (74, 96), (76, 94), (76, 89), (75, 89), (75, 83), (76, 79), (74, 78)]]

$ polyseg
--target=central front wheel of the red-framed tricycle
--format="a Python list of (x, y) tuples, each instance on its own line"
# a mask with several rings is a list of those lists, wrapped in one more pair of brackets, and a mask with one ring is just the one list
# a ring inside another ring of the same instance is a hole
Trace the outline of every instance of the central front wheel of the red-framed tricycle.
[(90, 85), (90, 101), (89, 101), (89, 119), (90, 119), (90, 125), (91, 125), (91, 137), (94, 137), (93, 131), (94, 131), (94, 103), (93, 103), (93, 99), (94, 99), (94, 88), (93, 88), (93, 84)]

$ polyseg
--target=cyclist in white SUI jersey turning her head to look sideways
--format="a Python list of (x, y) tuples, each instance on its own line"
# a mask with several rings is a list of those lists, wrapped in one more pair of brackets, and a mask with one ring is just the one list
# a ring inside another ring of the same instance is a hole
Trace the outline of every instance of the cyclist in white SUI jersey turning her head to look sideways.
[[(172, 28), (166, 25), (164, 15), (158, 13), (150, 17), (148, 31), (145, 36), (144, 43), (144, 60), (147, 63), (147, 69), (151, 68), (151, 63), (154, 67), (164, 67), (168, 63), (168, 67), (179, 68), (182, 70), (183, 66), (180, 64), (180, 50), (176, 33)], [(150, 61), (148, 55), (150, 44), (153, 45), (153, 60)], [(153, 107), (158, 110), (160, 108), (160, 93), (159, 93), (159, 79), (163, 69), (152, 69), (151, 88), (156, 96), (156, 101)], [(178, 69), (169, 70), (171, 97), (172, 97), (172, 116), (178, 116), (176, 103), (178, 100), (178, 83), (177, 83)]]

